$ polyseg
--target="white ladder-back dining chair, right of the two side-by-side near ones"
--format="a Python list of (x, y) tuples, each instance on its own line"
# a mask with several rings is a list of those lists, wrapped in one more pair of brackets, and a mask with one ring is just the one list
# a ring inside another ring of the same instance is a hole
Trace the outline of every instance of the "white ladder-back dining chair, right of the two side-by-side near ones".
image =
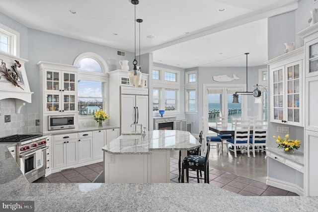
[(254, 120), (253, 123), (253, 136), (249, 138), (249, 146), (252, 147), (250, 151), (255, 157), (255, 147), (259, 151), (265, 151), (267, 144), (267, 120)]

